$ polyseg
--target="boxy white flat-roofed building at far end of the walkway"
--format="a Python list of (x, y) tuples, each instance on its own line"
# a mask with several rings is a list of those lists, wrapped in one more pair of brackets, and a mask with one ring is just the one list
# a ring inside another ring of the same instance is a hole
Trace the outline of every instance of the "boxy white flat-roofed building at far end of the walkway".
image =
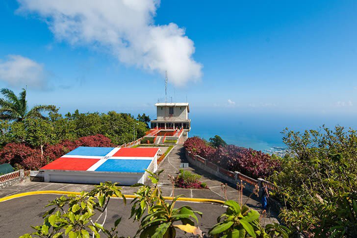
[(156, 119), (151, 121), (152, 129), (159, 129), (161, 133), (168, 131), (182, 131), (183, 139), (187, 139), (191, 130), (191, 119), (188, 119), (190, 107), (187, 102), (158, 102)]

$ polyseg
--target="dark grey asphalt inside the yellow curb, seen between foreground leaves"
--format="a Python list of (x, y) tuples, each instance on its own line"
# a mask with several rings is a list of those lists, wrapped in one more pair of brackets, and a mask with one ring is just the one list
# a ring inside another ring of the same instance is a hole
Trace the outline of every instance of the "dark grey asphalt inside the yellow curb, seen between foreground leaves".
[[(49, 200), (53, 200), (60, 195), (41, 194), (24, 196), (0, 202), (0, 237), (18, 238), (34, 230), (31, 225), (41, 225), (42, 215), (49, 210), (44, 208)], [(110, 228), (114, 221), (122, 216), (122, 221), (118, 227), (120, 235), (133, 237), (139, 225), (133, 222), (130, 216), (130, 200), (125, 206), (123, 200), (112, 199), (108, 205), (108, 214), (104, 224), (105, 228)], [(217, 217), (226, 209), (222, 205), (211, 203), (178, 202), (177, 206), (188, 205), (196, 211), (203, 212), (203, 217), (199, 217), (199, 227), (202, 231), (208, 232), (209, 228), (216, 224)], [(102, 222), (102, 220), (100, 220)], [(178, 233), (177, 237), (190, 237), (188, 234)]]

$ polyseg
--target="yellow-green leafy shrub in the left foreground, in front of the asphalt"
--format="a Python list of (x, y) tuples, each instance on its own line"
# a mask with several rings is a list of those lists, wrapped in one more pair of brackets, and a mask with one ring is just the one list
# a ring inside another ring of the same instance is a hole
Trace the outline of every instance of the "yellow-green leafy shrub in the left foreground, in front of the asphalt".
[[(20, 238), (89, 238), (100, 237), (102, 232), (106, 237), (117, 238), (117, 227), (121, 217), (115, 221), (114, 227), (106, 230), (102, 224), (98, 223), (102, 214), (106, 214), (110, 196), (116, 195), (125, 197), (121, 193), (121, 188), (116, 183), (105, 182), (90, 192), (82, 191), (80, 195), (68, 195), (56, 198), (46, 206), (51, 207), (44, 215), (44, 222), (40, 226), (33, 226), (35, 232), (25, 234)], [(97, 198), (96, 198), (97, 197)], [(100, 214), (95, 219), (96, 214)]]

